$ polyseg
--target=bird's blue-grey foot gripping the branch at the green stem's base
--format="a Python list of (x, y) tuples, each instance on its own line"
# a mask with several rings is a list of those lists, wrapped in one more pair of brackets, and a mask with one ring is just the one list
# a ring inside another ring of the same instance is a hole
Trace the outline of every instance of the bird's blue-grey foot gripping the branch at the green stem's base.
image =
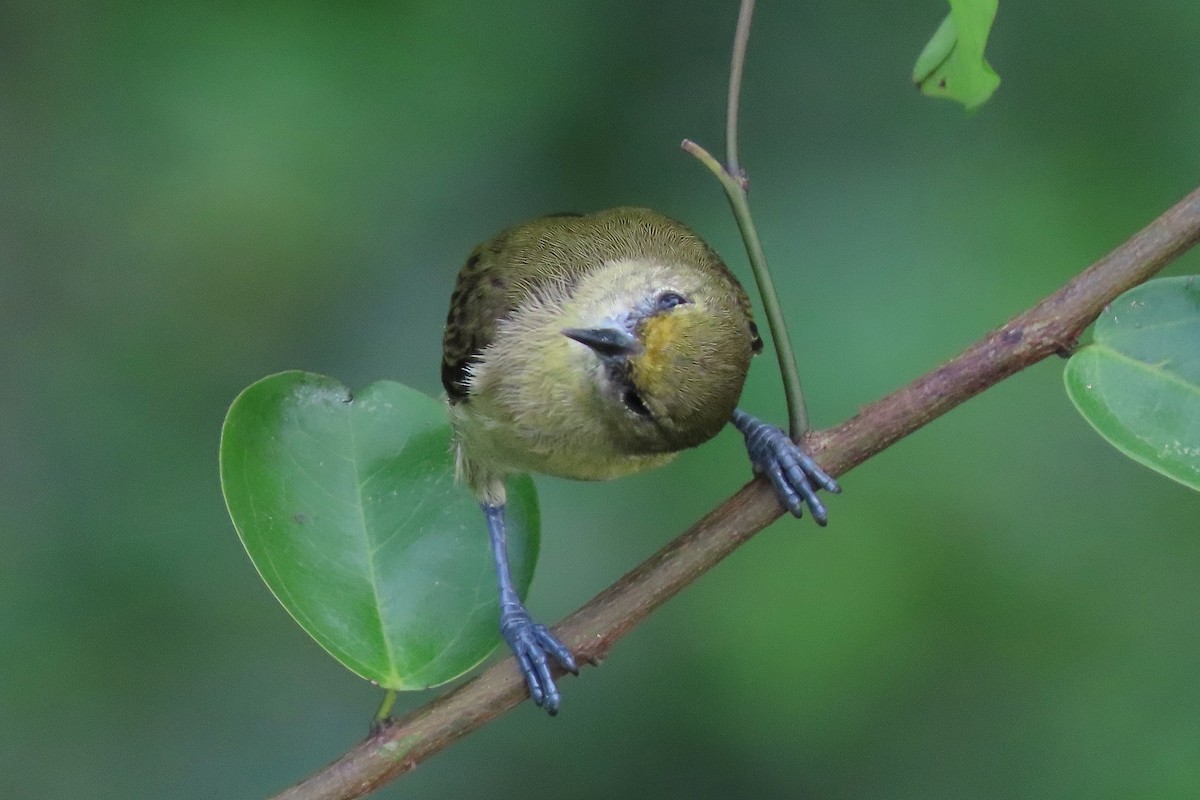
[(746, 452), (754, 471), (767, 476), (775, 487), (780, 503), (797, 517), (808, 505), (816, 523), (824, 525), (829, 513), (817, 497), (817, 489), (841, 492), (838, 481), (829, 477), (799, 445), (774, 425), (755, 419), (742, 409), (733, 410), (731, 421), (746, 438)]

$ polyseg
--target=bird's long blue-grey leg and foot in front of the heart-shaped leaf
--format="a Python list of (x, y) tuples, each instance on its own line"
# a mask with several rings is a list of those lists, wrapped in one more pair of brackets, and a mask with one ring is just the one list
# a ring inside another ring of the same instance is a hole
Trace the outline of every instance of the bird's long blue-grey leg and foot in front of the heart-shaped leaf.
[(487, 531), (492, 537), (492, 557), (496, 560), (496, 579), (500, 587), (500, 634), (517, 657), (521, 674), (529, 686), (533, 702), (551, 714), (558, 714), (559, 694), (554, 676), (550, 674), (551, 656), (563, 669), (578, 674), (575, 657), (562, 642), (554, 638), (545, 625), (529, 618), (512, 587), (509, 571), (509, 552), (504, 534), (504, 506), (480, 504), (487, 518)]

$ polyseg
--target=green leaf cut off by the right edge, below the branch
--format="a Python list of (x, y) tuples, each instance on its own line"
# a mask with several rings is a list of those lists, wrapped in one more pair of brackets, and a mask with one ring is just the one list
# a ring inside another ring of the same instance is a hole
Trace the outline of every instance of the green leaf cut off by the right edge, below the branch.
[(1200, 491), (1200, 279), (1130, 289), (1067, 362), (1067, 393), (1136, 462)]

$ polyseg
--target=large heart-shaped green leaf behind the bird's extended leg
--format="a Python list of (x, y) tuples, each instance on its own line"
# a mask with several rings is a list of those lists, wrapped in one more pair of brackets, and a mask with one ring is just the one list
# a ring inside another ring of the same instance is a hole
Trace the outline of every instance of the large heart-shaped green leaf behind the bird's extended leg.
[[(390, 690), (461, 675), (499, 643), (491, 547), (454, 482), (444, 405), (396, 383), (356, 396), (284, 372), (233, 402), (221, 485), (246, 552), (335, 658)], [(523, 595), (538, 553), (528, 477), (510, 481), (509, 554)]]

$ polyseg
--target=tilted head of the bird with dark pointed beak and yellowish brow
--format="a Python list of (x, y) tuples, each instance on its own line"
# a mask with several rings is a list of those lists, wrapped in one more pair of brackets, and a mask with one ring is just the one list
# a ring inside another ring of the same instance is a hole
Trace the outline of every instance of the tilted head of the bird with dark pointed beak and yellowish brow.
[(594, 387), (595, 413), (629, 452), (698, 445), (730, 420), (757, 335), (724, 272), (617, 261), (581, 281), (562, 333)]

